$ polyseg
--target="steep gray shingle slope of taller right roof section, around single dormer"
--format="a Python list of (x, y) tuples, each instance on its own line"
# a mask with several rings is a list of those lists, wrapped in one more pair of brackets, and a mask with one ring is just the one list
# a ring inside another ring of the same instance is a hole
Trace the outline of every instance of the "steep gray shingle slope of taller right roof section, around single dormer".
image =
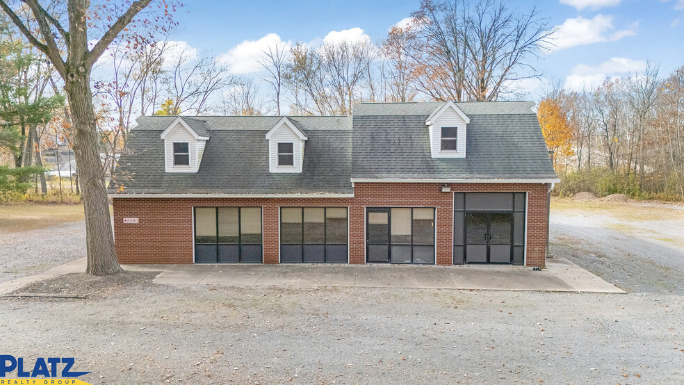
[(432, 158), (427, 115), (356, 116), (352, 178), (556, 179), (537, 117), (469, 115), (466, 158)]

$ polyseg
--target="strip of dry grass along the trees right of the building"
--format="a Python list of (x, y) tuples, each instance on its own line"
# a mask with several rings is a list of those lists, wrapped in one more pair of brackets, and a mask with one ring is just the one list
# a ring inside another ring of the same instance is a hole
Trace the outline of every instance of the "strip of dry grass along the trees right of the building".
[(663, 204), (642, 202), (578, 202), (551, 199), (551, 211), (576, 215), (608, 215), (621, 220), (684, 220), (684, 210)]

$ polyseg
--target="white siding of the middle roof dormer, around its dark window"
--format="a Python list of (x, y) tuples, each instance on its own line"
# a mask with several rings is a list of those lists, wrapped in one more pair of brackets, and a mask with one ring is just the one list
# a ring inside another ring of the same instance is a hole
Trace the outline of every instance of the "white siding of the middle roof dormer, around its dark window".
[[(283, 117), (266, 134), (268, 140), (268, 170), (270, 172), (302, 172), (304, 163), (304, 143), (309, 139), (302, 131)], [(278, 163), (278, 143), (292, 143), (293, 165), (280, 165)]]

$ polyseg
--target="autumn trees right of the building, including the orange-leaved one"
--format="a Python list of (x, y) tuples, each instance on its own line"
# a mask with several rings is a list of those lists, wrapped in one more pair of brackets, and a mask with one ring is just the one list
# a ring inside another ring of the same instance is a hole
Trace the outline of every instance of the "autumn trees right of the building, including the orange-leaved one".
[(538, 115), (560, 193), (684, 199), (684, 66), (662, 75), (648, 63), (582, 92), (557, 87)]

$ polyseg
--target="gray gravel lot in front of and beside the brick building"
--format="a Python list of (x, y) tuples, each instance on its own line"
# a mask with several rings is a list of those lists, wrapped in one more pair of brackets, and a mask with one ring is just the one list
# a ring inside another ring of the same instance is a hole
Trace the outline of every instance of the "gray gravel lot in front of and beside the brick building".
[[(92, 293), (86, 300), (0, 300), (2, 352), (76, 357), (92, 384), (684, 382), (684, 219), (669, 206), (593, 204), (554, 202), (551, 252), (626, 295), (76, 275), (26, 290), (64, 293), (68, 283)], [(0, 237), (4, 260), (11, 249)], [(53, 238), (31, 232), (40, 237)], [(61, 238), (82, 245), (83, 229)]]

